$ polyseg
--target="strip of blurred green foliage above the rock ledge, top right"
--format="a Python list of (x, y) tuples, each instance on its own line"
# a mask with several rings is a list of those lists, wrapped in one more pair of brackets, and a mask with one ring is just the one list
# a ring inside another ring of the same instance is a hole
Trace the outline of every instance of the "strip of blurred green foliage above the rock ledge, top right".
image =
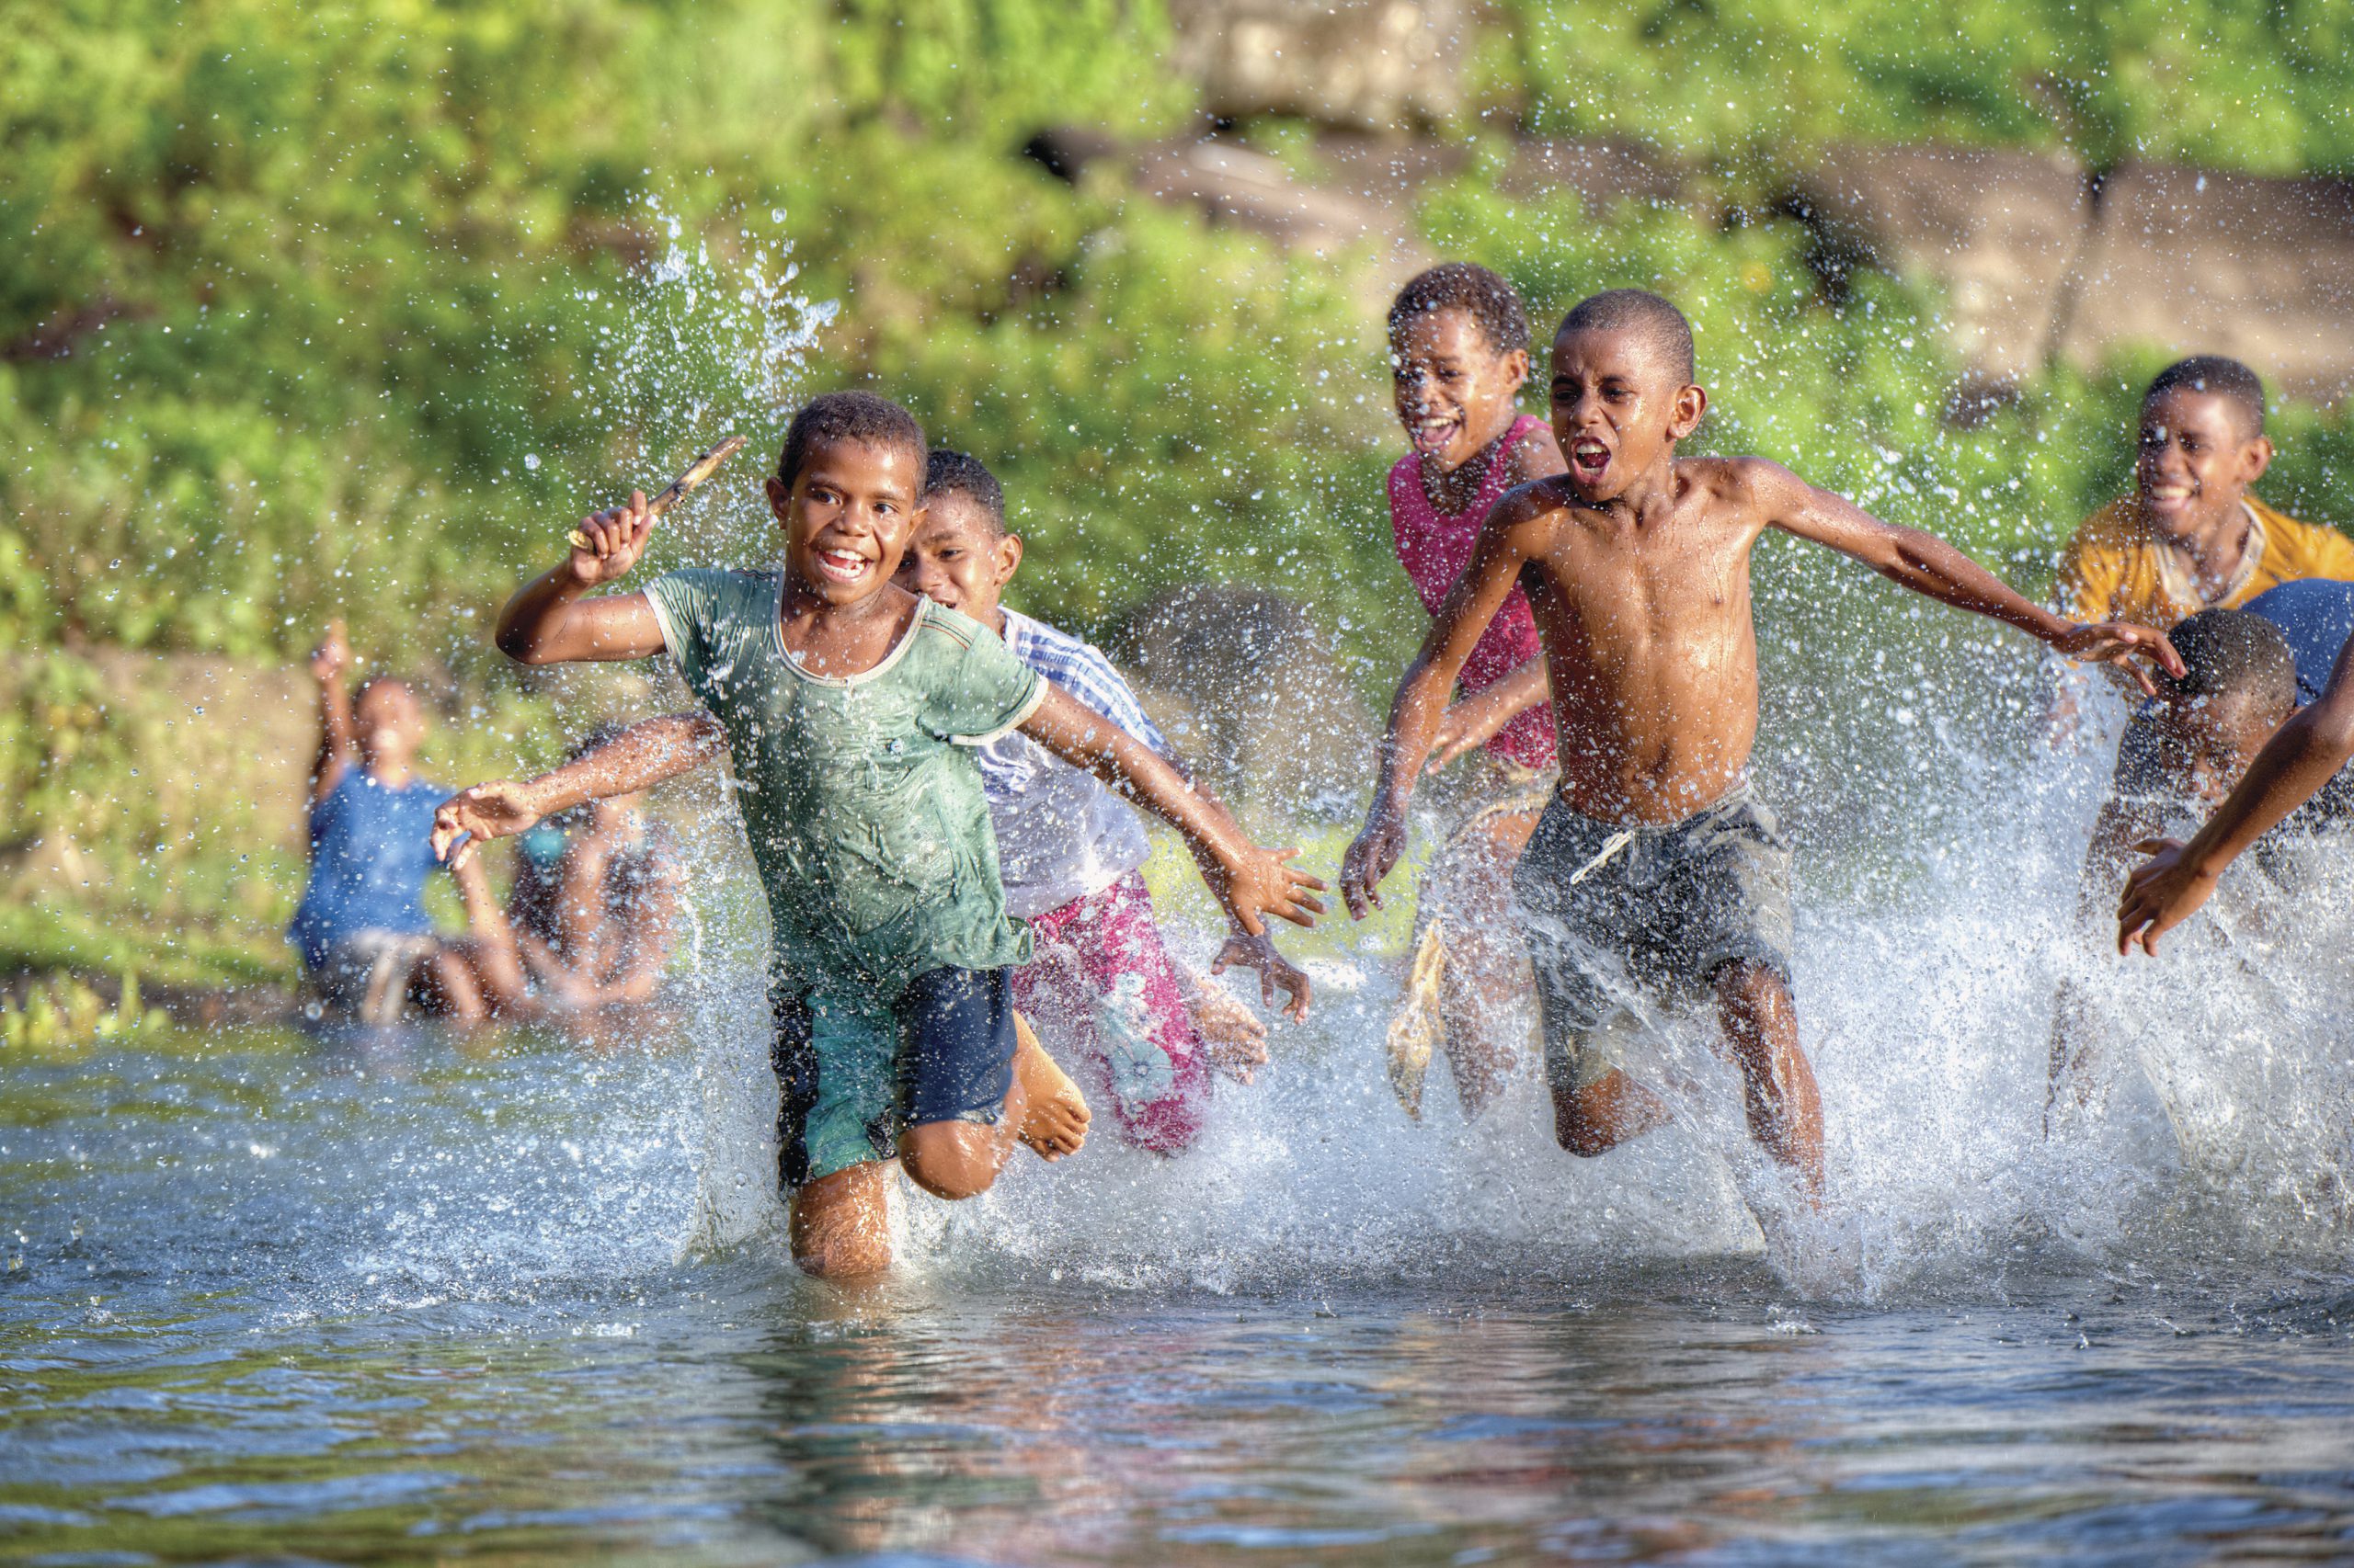
[(1704, 160), (1829, 141), (2354, 174), (2342, 0), (1495, 0), (1478, 94)]

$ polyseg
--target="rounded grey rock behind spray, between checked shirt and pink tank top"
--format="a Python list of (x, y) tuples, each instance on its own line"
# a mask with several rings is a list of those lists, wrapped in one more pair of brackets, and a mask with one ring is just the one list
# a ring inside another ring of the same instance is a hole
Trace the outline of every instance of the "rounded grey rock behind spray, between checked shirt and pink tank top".
[(1363, 805), (1379, 732), (1309, 612), (1269, 589), (1186, 584), (1106, 638), (1153, 723), (1226, 800)]

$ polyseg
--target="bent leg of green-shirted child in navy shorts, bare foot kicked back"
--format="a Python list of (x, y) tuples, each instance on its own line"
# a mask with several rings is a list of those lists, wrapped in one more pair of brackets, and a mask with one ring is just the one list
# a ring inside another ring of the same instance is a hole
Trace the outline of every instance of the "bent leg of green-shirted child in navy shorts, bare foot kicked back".
[(1069, 1078), (1022, 1038), (1010, 970), (918, 975), (892, 1012), (909, 1078), (899, 1163), (932, 1196), (989, 1191), (1017, 1140), (1048, 1158), (1085, 1140), (1085, 1104), (1062, 1092)]

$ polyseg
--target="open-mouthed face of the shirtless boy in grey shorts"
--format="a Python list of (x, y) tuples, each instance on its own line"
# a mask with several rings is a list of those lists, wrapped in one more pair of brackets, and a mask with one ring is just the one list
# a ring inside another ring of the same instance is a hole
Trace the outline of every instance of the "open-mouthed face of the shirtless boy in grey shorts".
[(1551, 398), (1570, 492), (1589, 506), (1657, 473), (1709, 407), (1709, 396), (1676, 374), (1660, 344), (1601, 327), (1554, 339)]

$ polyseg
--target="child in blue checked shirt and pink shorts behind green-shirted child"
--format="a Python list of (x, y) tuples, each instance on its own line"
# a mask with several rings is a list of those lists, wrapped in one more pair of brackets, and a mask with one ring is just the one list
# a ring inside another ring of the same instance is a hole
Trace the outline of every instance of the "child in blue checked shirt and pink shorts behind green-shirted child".
[[(1005, 532), (996, 476), (963, 452), (932, 452), (923, 525), (899, 563), (899, 586), (972, 617), (1026, 666), (1168, 758), (1170, 744), (1102, 652), (998, 603), (1019, 565), (1022, 539)], [(1003, 735), (975, 756), (1005, 911), (1029, 921), (1036, 939), (1036, 956), (1015, 970), (1015, 1003), (1048, 1041), (1090, 1062), (1130, 1144), (1182, 1154), (1201, 1137), (1210, 1067), (1248, 1083), (1266, 1059), (1266, 1031), (1217, 984), (1170, 963), (1139, 876), (1151, 845), (1125, 800), (1026, 735)], [(1236, 935), (1212, 972), (1229, 963), (1262, 972), (1269, 1005), (1281, 984), (1292, 1017), (1306, 1015), (1309, 979), (1271, 942)]]

